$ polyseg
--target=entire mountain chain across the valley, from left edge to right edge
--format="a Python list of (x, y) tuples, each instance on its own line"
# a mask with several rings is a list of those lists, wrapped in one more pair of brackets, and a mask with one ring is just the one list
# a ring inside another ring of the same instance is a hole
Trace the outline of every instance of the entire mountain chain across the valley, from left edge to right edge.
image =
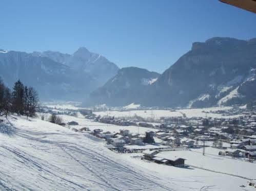
[(72, 55), (0, 49), (0, 77), (9, 87), (18, 79), (35, 87), (42, 100), (85, 100), (87, 106), (242, 104), (256, 100), (256, 38), (194, 42), (161, 75), (137, 67), (119, 69), (85, 47)]

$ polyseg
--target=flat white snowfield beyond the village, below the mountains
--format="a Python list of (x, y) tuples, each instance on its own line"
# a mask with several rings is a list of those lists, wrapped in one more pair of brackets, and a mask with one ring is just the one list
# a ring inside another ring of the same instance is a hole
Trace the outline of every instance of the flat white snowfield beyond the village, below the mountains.
[[(139, 115), (141, 117), (176, 117), (176, 116), (183, 116), (185, 114), (187, 117), (205, 117), (206, 112), (216, 111), (216, 110), (227, 110), (231, 109), (231, 107), (212, 107), (212, 108), (202, 108), (202, 109), (179, 109), (175, 111), (170, 110), (131, 110), (131, 111), (101, 111), (101, 112), (94, 112), (96, 115), (110, 115), (116, 117), (130, 117), (133, 115)], [(223, 116), (218, 113), (207, 113), (208, 117), (222, 117), (222, 118), (232, 118), (238, 117), (240, 115), (230, 115), (230, 116)]]

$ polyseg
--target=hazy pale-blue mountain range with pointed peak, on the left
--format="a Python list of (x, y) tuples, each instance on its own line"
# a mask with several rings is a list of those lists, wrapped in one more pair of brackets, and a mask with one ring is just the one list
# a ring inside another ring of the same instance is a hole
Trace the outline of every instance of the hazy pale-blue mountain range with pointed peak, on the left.
[(84, 100), (117, 74), (119, 67), (81, 47), (74, 54), (31, 54), (0, 49), (0, 77), (12, 87), (20, 79), (34, 86), (43, 100)]

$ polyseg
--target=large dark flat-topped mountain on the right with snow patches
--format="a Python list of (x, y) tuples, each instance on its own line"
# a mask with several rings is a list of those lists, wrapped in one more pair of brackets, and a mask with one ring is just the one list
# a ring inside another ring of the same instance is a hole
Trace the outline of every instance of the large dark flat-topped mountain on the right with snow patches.
[(206, 107), (256, 99), (255, 52), (255, 38), (195, 42), (154, 83), (145, 104)]

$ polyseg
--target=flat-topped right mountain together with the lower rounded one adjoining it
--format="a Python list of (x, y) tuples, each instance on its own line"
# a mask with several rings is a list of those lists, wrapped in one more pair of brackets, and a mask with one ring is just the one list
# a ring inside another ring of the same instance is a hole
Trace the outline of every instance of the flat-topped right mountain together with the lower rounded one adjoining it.
[[(157, 63), (156, 63), (157, 64)], [(162, 75), (123, 68), (85, 105), (208, 107), (256, 99), (256, 38), (215, 37), (194, 42), (192, 49)]]

